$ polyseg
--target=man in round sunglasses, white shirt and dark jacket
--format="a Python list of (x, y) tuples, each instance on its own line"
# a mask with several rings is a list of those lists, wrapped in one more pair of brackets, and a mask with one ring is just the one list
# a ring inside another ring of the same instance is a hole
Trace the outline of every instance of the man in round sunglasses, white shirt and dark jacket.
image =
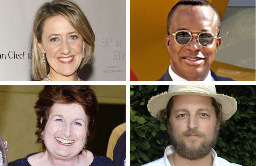
[(170, 66), (157, 81), (233, 81), (210, 70), (221, 38), (220, 17), (206, 0), (181, 0), (167, 18)]

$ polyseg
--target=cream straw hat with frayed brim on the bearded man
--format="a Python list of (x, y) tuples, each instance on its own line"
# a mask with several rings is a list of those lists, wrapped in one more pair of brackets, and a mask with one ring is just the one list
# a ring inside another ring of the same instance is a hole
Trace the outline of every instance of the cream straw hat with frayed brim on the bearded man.
[(153, 96), (148, 102), (148, 111), (159, 118), (161, 110), (167, 107), (171, 97), (176, 95), (200, 95), (213, 97), (222, 105), (222, 117), (228, 120), (236, 112), (236, 100), (233, 97), (217, 94), (215, 85), (170, 85), (168, 92)]

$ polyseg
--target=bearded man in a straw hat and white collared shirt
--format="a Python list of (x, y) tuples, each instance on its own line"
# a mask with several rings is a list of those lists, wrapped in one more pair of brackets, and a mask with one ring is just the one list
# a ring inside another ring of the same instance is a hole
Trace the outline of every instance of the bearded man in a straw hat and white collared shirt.
[(236, 100), (217, 94), (214, 85), (170, 85), (149, 100), (148, 111), (166, 122), (172, 145), (144, 166), (238, 166), (213, 149), (221, 124), (236, 108)]

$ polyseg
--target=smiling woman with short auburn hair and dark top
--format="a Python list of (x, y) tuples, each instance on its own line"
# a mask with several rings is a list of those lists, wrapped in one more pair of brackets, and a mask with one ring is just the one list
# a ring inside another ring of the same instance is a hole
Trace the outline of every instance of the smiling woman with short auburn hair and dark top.
[(9, 166), (112, 166), (112, 160), (86, 149), (93, 137), (98, 101), (88, 85), (46, 85), (34, 107), (37, 143), (43, 151)]

